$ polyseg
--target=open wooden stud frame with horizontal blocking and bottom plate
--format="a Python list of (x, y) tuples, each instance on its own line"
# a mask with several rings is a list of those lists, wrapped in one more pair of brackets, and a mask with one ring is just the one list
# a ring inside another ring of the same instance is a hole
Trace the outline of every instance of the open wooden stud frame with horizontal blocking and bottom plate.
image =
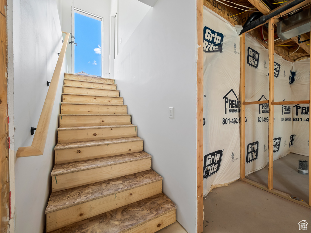
[[(258, 1), (256, 0), (248, 0), (249, 2), (252, 2), (252, 4), (258, 4)], [(291, 1), (290, 1), (291, 2)], [(299, 4), (299, 6), (296, 6), (294, 9), (304, 6), (305, 4), (309, 3), (310, 1), (304, 1), (301, 4)], [(288, 4), (288, 3), (286, 3)], [(291, 11), (294, 10), (291, 8)], [(287, 13), (290, 12), (286, 11)], [(281, 15), (284, 15), (285, 13), (282, 13)], [(276, 17), (275, 17), (276, 18)], [(268, 21), (269, 24), (269, 28), (268, 28), (268, 39), (269, 41), (274, 41), (274, 18), (269, 19)], [(241, 62), (245, 63), (245, 44), (243, 41), (243, 36), (241, 37)], [(305, 37), (304, 37), (305, 38)], [(309, 37), (308, 37), (309, 38)], [(295, 41), (295, 39), (293, 39)], [(302, 202), (302, 201), (298, 201), (295, 199), (292, 199), (290, 197), (289, 194), (283, 193), (281, 191), (275, 190), (273, 189), (273, 115), (274, 115), (274, 105), (282, 105), (282, 104), (288, 104), (288, 105), (292, 105), (292, 104), (309, 104), (310, 101), (309, 100), (301, 100), (301, 101), (279, 101), (279, 102), (274, 102), (274, 53), (275, 53), (275, 45), (281, 45), (283, 43), (287, 43), (292, 41), (292, 39), (288, 39), (279, 43), (269, 43), (268, 44), (268, 49), (269, 49), (269, 100), (265, 100), (265, 101), (253, 101), (253, 102), (245, 102), (245, 97), (243, 99), (243, 96), (245, 96), (245, 64), (241, 63), (241, 77), (240, 77), (240, 85), (241, 85), (241, 102), (243, 103), (241, 105), (241, 168), (240, 168), (240, 180), (251, 184), (253, 186), (256, 186), (262, 190), (266, 190), (272, 194), (275, 194), (277, 196), (280, 196), (282, 198), (288, 199), (292, 202), (298, 203), (302, 206), (305, 206), (307, 208), (311, 208), (311, 173), (309, 172), (309, 204)], [(296, 43), (298, 43), (298, 38), (297, 41), (295, 41)], [(309, 55), (310, 54), (310, 46), (304, 46), (303, 48), (307, 53), (303, 53), (297, 56), (303, 56), (303, 55)], [(294, 55), (296, 56), (296, 55)], [(292, 57), (291, 57), (292, 58)], [(288, 60), (288, 59), (286, 59)], [(310, 62), (310, 70), (311, 70), (311, 62)], [(309, 84), (309, 88), (311, 90), (311, 74), (310, 74), (310, 80), (309, 80), (310, 84)], [(310, 91), (310, 95), (309, 95), (309, 99), (311, 99), (311, 91)], [(268, 165), (268, 187), (265, 187), (264, 185), (261, 185), (257, 182), (254, 182), (252, 180), (248, 180), (245, 178), (245, 126), (243, 127), (242, 124), (242, 118), (243, 118), (243, 109), (245, 105), (249, 105), (249, 104), (259, 104), (259, 103), (269, 103), (269, 135), (268, 135), (268, 142), (269, 142), (269, 165)], [(311, 123), (309, 122), (309, 139), (311, 139)], [(242, 144), (244, 144), (244, 147), (242, 148)], [(309, 147), (309, 155), (311, 154), (311, 147)], [(243, 160), (243, 161), (242, 161)], [(311, 167), (311, 161), (309, 160), (309, 168)]]

